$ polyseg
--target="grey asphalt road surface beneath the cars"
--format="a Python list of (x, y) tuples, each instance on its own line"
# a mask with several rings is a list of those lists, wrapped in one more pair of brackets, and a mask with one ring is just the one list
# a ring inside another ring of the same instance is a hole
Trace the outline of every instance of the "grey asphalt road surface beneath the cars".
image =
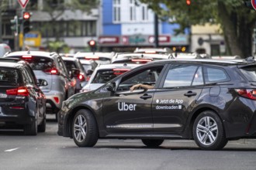
[(147, 148), (140, 140), (100, 139), (94, 148), (78, 148), (72, 139), (57, 136), (52, 119), (37, 136), (0, 131), (0, 170), (255, 170), (255, 160), (256, 140), (248, 139), (230, 141), (222, 151), (202, 151), (194, 141), (182, 140)]

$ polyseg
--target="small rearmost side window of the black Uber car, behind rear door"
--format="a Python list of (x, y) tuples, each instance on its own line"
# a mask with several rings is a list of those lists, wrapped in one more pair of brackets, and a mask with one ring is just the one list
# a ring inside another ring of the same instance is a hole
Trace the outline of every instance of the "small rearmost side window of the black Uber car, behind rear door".
[(203, 76), (206, 83), (224, 82), (230, 80), (226, 71), (221, 68), (203, 67)]

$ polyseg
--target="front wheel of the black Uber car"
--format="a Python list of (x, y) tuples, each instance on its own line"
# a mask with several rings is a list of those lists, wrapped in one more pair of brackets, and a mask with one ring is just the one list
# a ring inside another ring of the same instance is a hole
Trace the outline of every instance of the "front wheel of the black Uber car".
[(81, 109), (74, 115), (72, 135), (74, 143), (79, 147), (93, 147), (97, 143), (98, 126), (89, 110)]

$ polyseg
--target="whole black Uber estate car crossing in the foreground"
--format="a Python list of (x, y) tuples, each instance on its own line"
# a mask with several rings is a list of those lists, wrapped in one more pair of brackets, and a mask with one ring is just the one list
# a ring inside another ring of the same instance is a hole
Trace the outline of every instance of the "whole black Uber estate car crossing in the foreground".
[[(130, 92), (137, 83), (154, 88)], [(183, 138), (217, 150), (229, 140), (255, 138), (255, 114), (254, 59), (168, 59), (64, 101), (58, 134), (80, 147), (98, 138), (140, 138), (149, 147)]]

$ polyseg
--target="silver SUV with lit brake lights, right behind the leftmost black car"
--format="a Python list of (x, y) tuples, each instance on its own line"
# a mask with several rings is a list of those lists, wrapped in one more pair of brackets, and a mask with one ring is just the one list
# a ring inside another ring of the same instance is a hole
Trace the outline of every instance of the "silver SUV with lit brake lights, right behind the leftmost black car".
[(47, 86), (41, 90), (47, 97), (47, 113), (55, 114), (61, 109), (62, 102), (74, 94), (75, 83), (68, 74), (61, 56), (57, 53), (42, 51), (17, 51), (8, 53), (5, 58), (26, 60), (37, 79), (45, 79)]

